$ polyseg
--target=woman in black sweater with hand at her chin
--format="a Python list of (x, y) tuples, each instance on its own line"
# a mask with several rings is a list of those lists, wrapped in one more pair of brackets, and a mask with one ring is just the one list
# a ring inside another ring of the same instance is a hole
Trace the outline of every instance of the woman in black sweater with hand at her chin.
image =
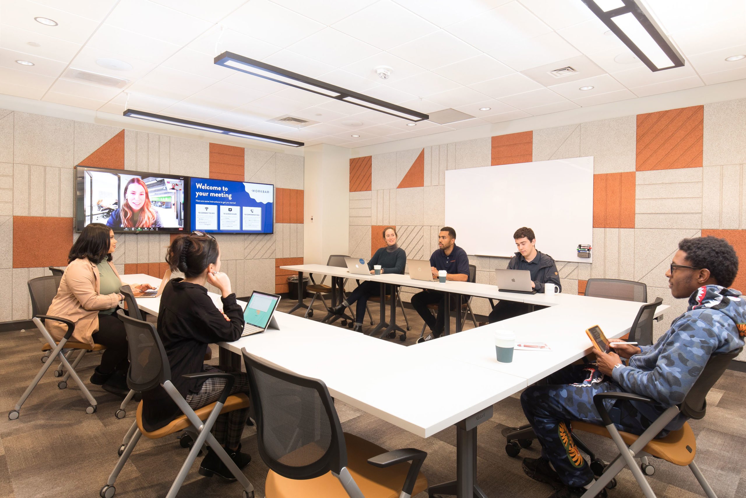
[[(231, 280), (220, 272), (220, 248), (215, 237), (201, 231), (177, 237), (166, 251), (166, 263), (172, 272), (180, 271), (186, 277), (173, 278), (166, 284), (158, 309), (158, 335), (169, 358), (171, 382), (194, 409), (216, 402), (225, 387), (225, 379), (189, 380), (184, 379), (185, 373), (230, 372), (236, 378), (231, 394), (248, 394), (245, 373), (231, 367), (203, 364), (210, 343), (238, 340), (244, 326), (243, 311), (236, 303)], [(208, 283), (220, 291), (222, 311), (207, 294)], [(179, 415), (181, 411), (163, 387), (142, 393), (142, 425), (145, 430), (160, 429)], [(248, 408), (231, 411), (220, 415), (212, 430), (239, 469), (251, 461), (250, 455), (240, 452), (247, 419)], [(199, 473), (207, 477), (217, 474), (227, 481), (236, 480), (212, 448), (207, 450)]]

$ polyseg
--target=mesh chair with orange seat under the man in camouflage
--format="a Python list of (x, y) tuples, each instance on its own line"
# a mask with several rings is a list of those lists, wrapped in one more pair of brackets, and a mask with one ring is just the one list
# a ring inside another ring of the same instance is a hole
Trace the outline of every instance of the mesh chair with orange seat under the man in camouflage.
[(709, 483), (700, 472), (699, 467), (695, 464), (697, 441), (689, 423), (684, 423), (684, 426), (677, 431), (669, 432), (665, 438), (655, 439), (655, 437), (661, 429), (671, 422), (671, 420), (674, 420), (674, 417), (677, 417), (680, 413), (695, 420), (702, 419), (707, 407), (707, 393), (715, 385), (715, 382), (718, 382), (718, 379), (723, 375), (730, 361), (736, 358), (741, 351), (742, 349), (738, 349), (735, 352), (725, 355), (712, 355), (702, 373), (700, 373), (695, 385), (686, 394), (683, 402), (664, 411), (639, 436), (628, 432), (620, 432), (616, 429), (611, 417), (609, 417), (609, 412), (604, 407), (604, 399), (630, 399), (637, 402), (654, 403), (653, 399), (634, 393), (599, 393), (593, 396), (593, 404), (596, 406), (598, 413), (601, 414), (604, 426), (597, 426), (586, 422), (573, 422), (572, 429), (574, 431), (592, 432), (612, 439), (619, 449), (619, 455), (603, 470), (601, 476), (596, 479), (596, 482), (586, 491), (586, 494), (583, 494), (583, 497), (595, 497), (604, 487), (609, 487), (609, 484), (614, 482), (615, 476), (624, 467), (628, 467), (632, 471), (632, 475), (635, 476), (635, 480), (640, 486), (642, 493), (645, 494), (645, 497), (655, 498), (655, 493), (653, 493), (648, 479), (645, 479), (645, 474), (651, 475), (651, 473), (647, 472), (645, 463), (638, 467), (635, 462), (635, 458), (654, 456), (682, 467), (685, 465), (688, 466), (707, 497), (717, 498), (715, 492), (712, 491)]

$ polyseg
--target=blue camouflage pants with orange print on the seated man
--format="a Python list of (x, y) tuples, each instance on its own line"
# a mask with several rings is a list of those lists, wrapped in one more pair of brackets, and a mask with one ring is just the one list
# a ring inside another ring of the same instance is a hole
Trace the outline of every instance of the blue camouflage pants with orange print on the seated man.
[[(542, 456), (551, 461), (562, 482), (568, 486), (586, 485), (593, 479), (593, 472), (572, 440), (570, 423), (583, 420), (603, 426), (593, 396), (618, 392), (621, 387), (596, 370), (595, 364), (569, 365), (546, 380), (548, 385), (524, 390), (521, 407), (542, 445)], [(651, 424), (631, 402), (607, 399), (604, 405), (621, 431), (639, 435)], [(663, 435), (665, 432), (659, 437)]]

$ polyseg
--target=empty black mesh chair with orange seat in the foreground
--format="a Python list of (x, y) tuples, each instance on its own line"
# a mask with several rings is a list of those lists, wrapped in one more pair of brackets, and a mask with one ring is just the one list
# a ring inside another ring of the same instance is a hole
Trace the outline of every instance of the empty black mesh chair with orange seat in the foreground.
[(324, 382), (242, 352), (257, 447), (269, 467), (267, 498), (410, 497), (427, 490), (419, 471), (426, 452), (386, 452), (343, 433)]

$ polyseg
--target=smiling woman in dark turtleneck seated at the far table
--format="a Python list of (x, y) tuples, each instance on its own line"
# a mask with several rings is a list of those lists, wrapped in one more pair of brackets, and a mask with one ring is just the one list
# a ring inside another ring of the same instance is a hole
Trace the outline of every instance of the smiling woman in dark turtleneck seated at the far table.
[[(383, 240), (386, 242), (386, 246), (378, 249), (371, 258), (371, 261), (368, 261), (368, 268), (371, 271), (371, 275), (375, 273), (373, 267), (376, 264), (380, 264), (380, 273), (404, 274), (404, 267), (407, 266), (407, 252), (404, 252), (404, 249), (401, 249), (396, 244), (397, 237), (396, 228), (391, 226), (383, 228)], [(392, 292), (391, 287), (391, 285), (386, 285), (387, 294)], [(366, 317), (368, 298), (378, 295), (380, 295), (380, 284), (376, 281), (364, 281), (352, 291), (347, 299), (342, 301), (342, 304), (336, 305), (331, 311), (335, 314), (342, 314), (345, 312), (346, 307), (351, 306), (357, 301), (357, 313), (355, 314), (353, 330), (355, 332), (363, 332), (363, 319)], [(381, 306), (383, 306), (383, 302)]]

